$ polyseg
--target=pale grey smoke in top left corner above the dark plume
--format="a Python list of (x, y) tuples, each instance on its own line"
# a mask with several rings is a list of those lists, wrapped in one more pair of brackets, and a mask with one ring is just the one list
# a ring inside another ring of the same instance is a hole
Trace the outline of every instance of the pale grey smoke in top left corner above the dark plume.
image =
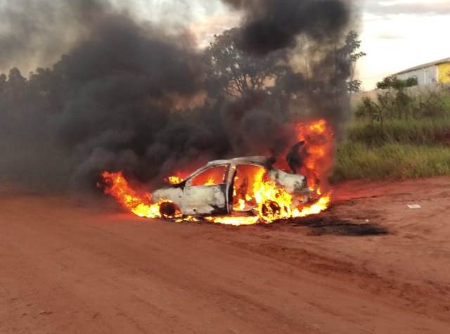
[(110, 9), (90, 0), (0, 1), (0, 69), (53, 64)]

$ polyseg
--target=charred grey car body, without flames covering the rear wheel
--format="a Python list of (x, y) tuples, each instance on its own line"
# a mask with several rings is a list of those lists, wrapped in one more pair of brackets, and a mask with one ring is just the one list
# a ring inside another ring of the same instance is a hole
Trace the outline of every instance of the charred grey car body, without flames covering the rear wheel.
[[(237, 193), (248, 192), (252, 183), (249, 176), (261, 172), (288, 193), (295, 195), (297, 205), (309, 203), (314, 191), (307, 186), (305, 176), (290, 174), (274, 167), (275, 160), (266, 157), (245, 157), (215, 160), (197, 169), (184, 181), (153, 192), (153, 201), (174, 203), (183, 215), (210, 216), (252, 212), (255, 201), (236, 207)], [(173, 212), (173, 207), (161, 206), (162, 217)]]

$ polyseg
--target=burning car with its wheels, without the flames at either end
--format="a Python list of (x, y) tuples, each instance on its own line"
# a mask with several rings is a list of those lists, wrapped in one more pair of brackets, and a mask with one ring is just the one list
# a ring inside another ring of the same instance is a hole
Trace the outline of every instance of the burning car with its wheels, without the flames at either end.
[[(274, 167), (274, 158), (245, 157), (215, 160), (197, 169), (184, 181), (153, 192), (153, 201), (160, 202), (160, 214), (211, 216), (226, 214), (259, 214), (273, 217), (281, 214), (283, 203), (265, 198), (261, 189), (273, 184), (280, 195), (292, 196), (289, 205), (299, 207), (316, 199), (305, 176), (290, 174)], [(270, 197), (270, 196), (269, 196)]]

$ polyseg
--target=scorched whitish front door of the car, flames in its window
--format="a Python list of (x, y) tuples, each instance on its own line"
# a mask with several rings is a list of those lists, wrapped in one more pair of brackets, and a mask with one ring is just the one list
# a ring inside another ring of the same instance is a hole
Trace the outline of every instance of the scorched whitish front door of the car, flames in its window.
[(186, 181), (182, 210), (184, 214), (228, 213), (226, 175), (229, 165), (208, 167)]

